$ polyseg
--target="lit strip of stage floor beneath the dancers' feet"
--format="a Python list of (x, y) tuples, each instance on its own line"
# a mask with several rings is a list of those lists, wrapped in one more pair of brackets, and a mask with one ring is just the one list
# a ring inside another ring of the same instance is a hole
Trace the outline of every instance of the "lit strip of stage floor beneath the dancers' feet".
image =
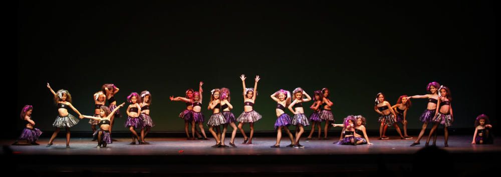
[[(416, 138), (416, 137), (414, 137)], [(347, 155), (347, 154), (414, 154), (424, 147), (426, 140), (421, 139), (421, 145), (409, 147), (414, 139), (400, 140), (391, 137), (388, 140), (377, 140), (369, 137), (374, 145), (336, 145), (335, 140), (301, 140), (305, 148), (288, 148), (289, 139), (282, 139), (280, 148), (270, 148), (276, 142), (274, 137), (256, 137), (252, 145), (241, 144), (243, 138), (235, 138), (236, 148), (211, 148), (215, 141), (186, 140), (185, 138), (147, 138), (149, 145), (129, 145), (131, 138), (116, 138), (118, 141), (106, 148), (96, 148), (97, 143), (91, 138), (72, 138), (71, 148), (66, 148), (66, 139), (57, 138), (52, 147), (45, 147), (48, 139), (38, 141), (40, 146), (10, 146), (14, 140), (3, 140), (2, 145), (8, 145), (16, 155)], [(303, 138), (304, 139), (304, 138)], [(471, 136), (449, 137), (449, 147), (444, 147), (443, 137), (438, 137), (437, 147), (449, 153), (488, 153), (500, 152), (501, 144), (496, 139), (493, 145), (471, 145)], [(431, 145), (431, 142), (430, 142)], [(226, 139), (229, 146), (229, 139)], [(182, 152), (180, 152), (182, 151)]]

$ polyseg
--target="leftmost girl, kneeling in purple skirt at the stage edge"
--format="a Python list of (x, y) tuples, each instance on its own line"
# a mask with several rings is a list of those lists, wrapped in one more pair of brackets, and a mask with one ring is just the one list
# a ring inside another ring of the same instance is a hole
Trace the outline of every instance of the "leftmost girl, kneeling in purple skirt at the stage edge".
[(39, 129), (33, 128), (35, 127), (35, 122), (31, 119), (31, 114), (33, 112), (33, 106), (26, 105), (21, 110), (21, 120), (26, 121), (26, 128), (21, 132), (21, 136), (19, 136), (18, 140), (14, 142), (12, 145), (20, 145), (19, 140), (26, 140), (26, 142), (30, 145), (40, 145), (37, 143), (38, 138), (42, 135), (42, 131)]

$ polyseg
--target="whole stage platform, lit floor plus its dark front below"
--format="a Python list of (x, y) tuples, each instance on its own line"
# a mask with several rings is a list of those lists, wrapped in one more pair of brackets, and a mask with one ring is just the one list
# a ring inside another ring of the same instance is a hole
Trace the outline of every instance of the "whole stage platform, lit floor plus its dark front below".
[[(287, 148), (290, 141), (283, 139), (281, 148), (270, 148), (275, 137), (256, 137), (252, 145), (237, 148), (211, 148), (214, 140), (186, 140), (185, 138), (148, 138), (149, 145), (129, 145), (130, 138), (117, 138), (106, 148), (96, 148), (90, 138), (72, 138), (71, 148), (65, 139), (56, 139), (52, 147), (10, 146), (13, 140), (2, 140), (3, 160), (12, 162), (3, 168), (29, 172), (39, 176), (206, 176), (238, 175), (260, 176), (420, 176), (430, 167), (451, 169), (444, 175), (469, 176), (479, 171), (496, 168), (501, 154), (500, 139), (493, 145), (471, 145), (471, 136), (451, 136), (449, 147), (443, 147), (438, 137), (438, 148), (409, 147), (414, 139), (376, 140), (374, 145), (335, 145), (334, 140), (302, 140), (305, 148)], [(415, 138), (415, 137), (414, 137)], [(229, 140), (226, 140), (226, 145)], [(229, 146), (229, 145), (228, 145)], [(430, 171), (431, 172), (431, 171)], [(313, 173), (313, 174), (312, 174)]]

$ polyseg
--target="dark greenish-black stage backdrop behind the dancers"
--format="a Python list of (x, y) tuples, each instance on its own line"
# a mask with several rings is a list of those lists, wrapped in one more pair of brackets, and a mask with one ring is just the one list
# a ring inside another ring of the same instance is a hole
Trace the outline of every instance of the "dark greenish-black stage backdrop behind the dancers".
[[(262, 77), (255, 110), (263, 119), (255, 124), (257, 131), (273, 131), (276, 103), (270, 95), (296, 87), (312, 96), (329, 88), (336, 123), (363, 115), (370, 130), (379, 128), (373, 110), (378, 92), (393, 105), (401, 95), (426, 94), (431, 81), (451, 88), (453, 128), (472, 128), (482, 113), (496, 117), (490, 2), (21, 0), (17, 5), (18, 63), (11, 73), (17, 77), (17, 98), (6, 118), (17, 120), (16, 130), (23, 127), (19, 112), (26, 104), (34, 106), (36, 127), (54, 129), (50, 82), (56, 91), (69, 90), (85, 115), (93, 114), (92, 95), (104, 83), (120, 88), (119, 103), (131, 92), (148, 90), (152, 131), (183, 131), (178, 114), (184, 103), (169, 96), (184, 96), (203, 81), (208, 119), (209, 91), (227, 87), (238, 116), (240, 74), (247, 76), (247, 87), (253, 87), (256, 75)], [(412, 103), (408, 128), (419, 129), (427, 100)], [(125, 119), (116, 119), (114, 130), (127, 131)], [(88, 121), (72, 130), (91, 131)]]

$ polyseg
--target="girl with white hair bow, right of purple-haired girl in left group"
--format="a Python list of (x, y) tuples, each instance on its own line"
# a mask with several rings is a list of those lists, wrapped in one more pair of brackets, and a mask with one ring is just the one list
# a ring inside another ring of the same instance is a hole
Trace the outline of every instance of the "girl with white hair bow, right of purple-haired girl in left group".
[(150, 117), (151, 93), (147, 90), (142, 91), (141, 100), (142, 102), (139, 104), (139, 106), (141, 106), (141, 115), (139, 115), (139, 117), (143, 121), (143, 128), (145, 129), (143, 132), (141, 132), (141, 140), (143, 140), (142, 144), (149, 144), (148, 142), (144, 141), (144, 137), (148, 135), (151, 127), (155, 126)]

